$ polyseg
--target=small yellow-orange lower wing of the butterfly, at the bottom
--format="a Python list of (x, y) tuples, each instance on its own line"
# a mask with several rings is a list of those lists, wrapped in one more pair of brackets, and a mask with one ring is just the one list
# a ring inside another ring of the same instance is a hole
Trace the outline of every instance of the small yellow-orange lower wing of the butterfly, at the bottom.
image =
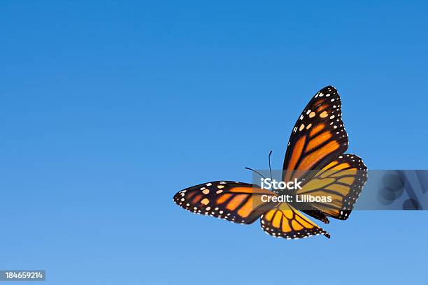
[(317, 226), (288, 203), (280, 203), (263, 214), (260, 222), (263, 230), (276, 238), (297, 239), (320, 234), (330, 238), (327, 231)]

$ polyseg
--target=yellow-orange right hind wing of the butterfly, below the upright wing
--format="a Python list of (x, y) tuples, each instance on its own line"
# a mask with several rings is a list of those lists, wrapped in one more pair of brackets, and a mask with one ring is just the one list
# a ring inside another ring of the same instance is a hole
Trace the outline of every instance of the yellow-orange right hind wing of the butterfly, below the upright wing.
[[(367, 168), (362, 159), (355, 154), (343, 154), (318, 171), (297, 190), (297, 195), (330, 196), (331, 202), (313, 202), (311, 206), (329, 217), (344, 220), (348, 219), (366, 180)], [(314, 212), (306, 213), (312, 215)]]

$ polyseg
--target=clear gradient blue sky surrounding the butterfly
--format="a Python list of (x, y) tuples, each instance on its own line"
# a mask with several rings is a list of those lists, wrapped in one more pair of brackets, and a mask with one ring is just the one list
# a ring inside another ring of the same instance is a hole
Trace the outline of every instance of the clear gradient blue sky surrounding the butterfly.
[(287, 241), (174, 205), (282, 166), (318, 89), (349, 152), (428, 168), (427, 1), (1, 1), (0, 269), (46, 284), (403, 284), (427, 212)]

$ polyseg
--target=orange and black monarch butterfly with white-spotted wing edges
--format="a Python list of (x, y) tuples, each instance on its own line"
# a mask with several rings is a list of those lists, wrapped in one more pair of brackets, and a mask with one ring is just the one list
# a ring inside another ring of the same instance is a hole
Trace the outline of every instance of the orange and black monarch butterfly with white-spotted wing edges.
[[(283, 164), (283, 181), (304, 181), (297, 194), (329, 194), (333, 203), (312, 203), (301, 212), (296, 203), (266, 201), (262, 196), (278, 193), (255, 184), (215, 181), (179, 191), (174, 202), (185, 210), (206, 214), (240, 224), (260, 218), (263, 230), (276, 238), (307, 238), (329, 233), (306, 215), (325, 224), (328, 217), (348, 219), (362, 191), (367, 175), (362, 159), (343, 154), (348, 149), (348, 134), (341, 119), (341, 98), (332, 86), (321, 89), (297, 119)], [(313, 171), (315, 170), (315, 171)]]

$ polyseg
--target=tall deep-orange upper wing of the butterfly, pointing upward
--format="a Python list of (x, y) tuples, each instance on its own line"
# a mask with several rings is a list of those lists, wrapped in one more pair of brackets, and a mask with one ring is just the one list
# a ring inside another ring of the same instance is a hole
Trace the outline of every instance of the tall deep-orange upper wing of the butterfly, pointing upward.
[(292, 130), (283, 165), (283, 181), (308, 181), (311, 172), (322, 169), (348, 148), (348, 135), (342, 122), (341, 98), (332, 86), (321, 89)]

